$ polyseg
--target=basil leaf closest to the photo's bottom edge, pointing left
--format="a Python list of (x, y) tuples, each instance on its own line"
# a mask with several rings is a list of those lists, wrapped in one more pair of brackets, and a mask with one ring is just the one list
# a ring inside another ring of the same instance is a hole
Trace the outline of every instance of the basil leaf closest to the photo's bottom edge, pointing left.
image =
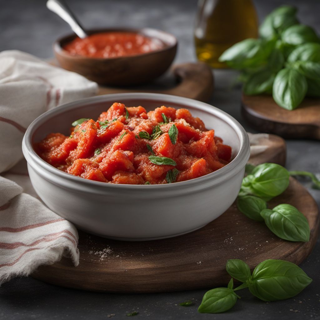
[(198, 312), (200, 313), (225, 312), (231, 309), (236, 304), (237, 298), (240, 298), (240, 297), (237, 296), (236, 293), (229, 288), (215, 288), (215, 289), (209, 290), (204, 294), (201, 305), (198, 308)]

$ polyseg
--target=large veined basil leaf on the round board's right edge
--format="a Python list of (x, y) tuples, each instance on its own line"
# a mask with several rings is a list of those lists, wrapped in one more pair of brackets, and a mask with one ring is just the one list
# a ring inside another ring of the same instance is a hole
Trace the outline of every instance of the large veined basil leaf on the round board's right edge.
[(308, 242), (310, 228), (306, 217), (291, 204), (279, 204), (261, 211), (267, 227), (279, 238)]

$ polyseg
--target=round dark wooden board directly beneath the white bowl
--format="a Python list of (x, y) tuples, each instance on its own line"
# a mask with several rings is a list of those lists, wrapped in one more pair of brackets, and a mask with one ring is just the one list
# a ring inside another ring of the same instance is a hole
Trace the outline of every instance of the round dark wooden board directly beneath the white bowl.
[[(269, 151), (264, 153), (267, 161)], [(259, 157), (260, 162), (265, 162), (261, 154)], [(283, 159), (274, 157), (281, 164)], [(258, 158), (255, 156), (251, 162), (258, 164)], [(317, 204), (293, 178), (288, 189), (270, 202), (270, 207), (281, 203), (294, 205), (307, 217), (309, 242), (281, 240), (265, 224), (248, 219), (233, 204), (204, 228), (169, 239), (125, 242), (79, 231), (79, 266), (74, 267), (70, 259), (62, 258), (55, 264), (41, 266), (33, 277), (92, 291), (168, 292), (226, 285), (230, 279), (225, 270), (228, 259), (242, 259), (252, 269), (271, 258), (299, 264), (316, 243)]]

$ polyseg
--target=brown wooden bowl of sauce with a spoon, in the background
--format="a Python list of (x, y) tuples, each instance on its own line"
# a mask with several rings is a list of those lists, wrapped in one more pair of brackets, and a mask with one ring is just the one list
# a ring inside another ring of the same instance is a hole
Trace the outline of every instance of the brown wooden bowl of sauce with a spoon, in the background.
[(75, 56), (63, 49), (63, 46), (76, 38), (75, 34), (58, 39), (53, 50), (60, 66), (74, 71), (86, 78), (104, 85), (135, 85), (147, 83), (161, 76), (171, 65), (176, 51), (177, 39), (170, 33), (151, 29), (96, 29), (89, 30), (88, 34), (98, 32), (137, 32), (161, 40), (164, 48), (148, 53), (115, 57), (91, 58)]

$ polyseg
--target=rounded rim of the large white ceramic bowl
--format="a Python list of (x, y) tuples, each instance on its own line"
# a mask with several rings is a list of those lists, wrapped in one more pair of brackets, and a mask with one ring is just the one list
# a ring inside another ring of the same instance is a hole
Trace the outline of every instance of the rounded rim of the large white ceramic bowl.
[[(120, 98), (119, 98), (120, 97)], [(36, 129), (41, 125), (43, 122), (49, 120), (52, 116), (57, 116), (59, 114), (63, 114), (67, 110), (76, 109), (81, 106), (85, 106), (88, 103), (93, 102), (103, 102), (107, 100), (121, 100), (123, 99), (148, 99), (148, 100), (156, 100), (161, 103), (178, 103), (178, 104), (185, 104), (188, 107), (190, 104), (194, 106), (194, 108), (200, 109), (205, 112), (209, 112), (214, 116), (217, 116), (221, 120), (225, 121), (229, 124), (233, 130), (235, 130), (238, 138), (240, 140), (240, 147), (239, 152), (235, 156), (235, 158), (225, 165), (224, 167), (208, 173), (204, 176), (180, 181), (175, 183), (168, 183), (168, 184), (153, 184), (153, 185), (131, 185), (131, 184), (116, 184), (116, 183), (106, 183), (94, 180), (84, 179), (82, 177), (78, 177), (72, 175), (67, 172), (63, 172), (51, 164), (45, 162), (38, 154), (36, 153), (35, 149), (33, 148), (32, 144), (32, 137)], [(247, 132), (244, 130), (243, 126), (232, 116), (230, 116), (225, 111), (220, 110), (219, 108), (213, 107), (210, 104), (207, 104), (202, 101), (184, 98), (175, 95), (169, 94), (162, 94), (162, 93), (144, 93), (144, 92), (134, 92), (134, 93), (112, 93), (112, 94), (105, 94), (100, 96), (93, 96), (81, 100), (76, 100), (73, 102), (65, 103), (59, 107), (53, 108), (44, 112), (42, 115), (38, 116), (27, 128), (23, 140), (22, 140), (22, 151), (23, 155), (26, 158), (28, 164), (30, 164), (30, 160), (34, 161), (37, 165), (41, 166), (46, 172), (50, 172), (55, 177), (60, 177), (62, 180), (68, 180), (69, 182), (74, 183), (81, 183), (87, 187), (97, 187), (97, 188), (120, 188), (120, 189), (129, 189), (129, 190), (154, 190), (156, 189), (174, 189), (179, 186), (179, 188), (189, 188), (190, 186), (196, 186), (199, 184), (205, 184), (206, 182), (211, 182), (210, 187), (220, 183), (221, 179), (223, 178), (230, 178), (235, 175), (237, 172), (242, 170), (247, 163), (249, 156), (250, 156), (250, 142)], [(34, 165), (30, 164), (33, 168)]]

